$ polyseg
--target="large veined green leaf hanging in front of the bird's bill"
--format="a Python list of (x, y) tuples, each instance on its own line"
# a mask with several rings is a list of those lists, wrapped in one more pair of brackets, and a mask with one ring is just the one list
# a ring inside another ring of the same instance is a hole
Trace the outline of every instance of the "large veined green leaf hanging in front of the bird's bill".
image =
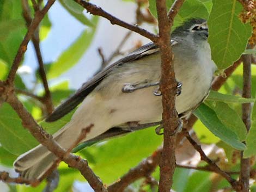
[(252, 27), (239, 20), (242, 5), (238, 1), (213, 0), (212, 3), (208, 41), (212, 60), (219, 69), (225, 69), (245, 51)]

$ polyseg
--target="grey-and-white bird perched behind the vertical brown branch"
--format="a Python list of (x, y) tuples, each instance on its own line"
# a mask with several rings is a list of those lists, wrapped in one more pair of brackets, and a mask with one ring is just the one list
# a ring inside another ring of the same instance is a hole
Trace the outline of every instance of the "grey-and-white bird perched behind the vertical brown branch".
[[(208, 34), (203, 18), (190, 18), (171, 34), (174, 72), (180, 82), (175, 100), (179, 117), (190, 114), (209, 94), (217, 67), (211, 59)], [(160, 49), (150, 42), (97, 73), (47, 117), (46, 121), (56, 121), (79, 105), (71, 120), (53, 134), (54, 140), (68, 150), (90, 125), (81, 142), (129, 133), (132, 125), (160, 122), (160, 79)], [(41, 180), (57, 159), (40, 144), (21, 154), (14, 168), (25, 179)]]

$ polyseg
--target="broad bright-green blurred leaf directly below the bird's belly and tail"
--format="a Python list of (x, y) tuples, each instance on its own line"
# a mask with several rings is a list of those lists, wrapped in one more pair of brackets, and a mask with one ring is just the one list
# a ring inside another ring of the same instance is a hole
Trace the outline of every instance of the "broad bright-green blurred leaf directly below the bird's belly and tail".
[(94, 157), (95, 163), (89, 164), (96, 175), (105, 183), (112, 183), (152, 154), (161, 143), (162, 137), (155, 134), (154, 128), (148, 128), (103, 141), (84, 150)]

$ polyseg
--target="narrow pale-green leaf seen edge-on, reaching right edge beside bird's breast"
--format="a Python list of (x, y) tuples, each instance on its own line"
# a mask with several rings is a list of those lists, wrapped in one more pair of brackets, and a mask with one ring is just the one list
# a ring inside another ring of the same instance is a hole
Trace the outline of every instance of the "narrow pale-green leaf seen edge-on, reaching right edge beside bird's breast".
[(206, 101), (222, 101), (227, 103), (251, 103), (255, 102), (255, 98), (243, 98), (235, 95), (221, 94), (217, 91), (211, 91)]

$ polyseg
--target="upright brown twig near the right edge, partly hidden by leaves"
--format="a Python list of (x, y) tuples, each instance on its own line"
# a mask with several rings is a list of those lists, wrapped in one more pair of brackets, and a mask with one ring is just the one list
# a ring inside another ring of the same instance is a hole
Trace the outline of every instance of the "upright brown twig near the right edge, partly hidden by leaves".
[[(249, 48), (248, 46), (247, 48)], [(251, 98), (251, 87), (252, 87), (252, 71), (251, 71), (251, 63), (252, 63), (252, 55), (246, 54), (242, 55), (243, 61), (243, 94), (242, 96), (245, 98)], [(247, 131), (249, 131), (251, 127), (251, 103), (243, 103), (242, 104), (242, 120), (245, 123)], [(241, 192), (249, 191), (249, 178), (250, 178), (250, 159), (243, 158), (243, 152), (241, 152), (241, 163), (240, 163), (240, 178), (239, 184), (241, 186)]]

